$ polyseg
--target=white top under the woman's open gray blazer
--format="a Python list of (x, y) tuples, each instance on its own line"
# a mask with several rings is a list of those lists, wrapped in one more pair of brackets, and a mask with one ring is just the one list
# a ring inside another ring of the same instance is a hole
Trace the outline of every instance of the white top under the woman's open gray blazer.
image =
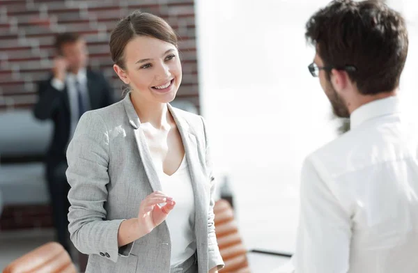
[(171, 235), (171, 266), (184, 263), (196, 251), (194, 236), (194, 192), (192, 178), (186, 157), (178, 170), (167, 176), (162, 169), (157, 169), (162, 185), (162, 192), (176, 201), (176, 206), (167, 217)]

